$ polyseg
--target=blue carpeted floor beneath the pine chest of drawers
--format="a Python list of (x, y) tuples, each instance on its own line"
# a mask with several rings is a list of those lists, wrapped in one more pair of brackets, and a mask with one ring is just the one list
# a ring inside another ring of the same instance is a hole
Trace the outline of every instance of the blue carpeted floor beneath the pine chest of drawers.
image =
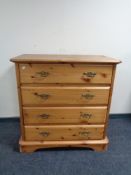
[(18, 120), (0, 120), (0, 175), (131, 175), (131, 118), (110, 119), (106, 152), (47, 149), (19, 153)]

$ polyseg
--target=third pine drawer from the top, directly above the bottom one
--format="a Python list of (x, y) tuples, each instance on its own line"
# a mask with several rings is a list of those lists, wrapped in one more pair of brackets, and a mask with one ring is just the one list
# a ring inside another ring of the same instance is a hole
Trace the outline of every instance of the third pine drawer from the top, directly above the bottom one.
[(103, 124), (107, 107), (24, 107), (26, 124)]

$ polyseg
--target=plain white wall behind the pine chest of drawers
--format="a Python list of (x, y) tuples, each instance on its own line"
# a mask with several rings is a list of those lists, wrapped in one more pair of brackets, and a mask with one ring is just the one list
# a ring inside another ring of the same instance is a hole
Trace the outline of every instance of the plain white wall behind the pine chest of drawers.
[(23, 53), (121, 59), (111, 113), (131, 113), (130, 0), (0, 0), (0, 117), (19, 115), (9, 59)]

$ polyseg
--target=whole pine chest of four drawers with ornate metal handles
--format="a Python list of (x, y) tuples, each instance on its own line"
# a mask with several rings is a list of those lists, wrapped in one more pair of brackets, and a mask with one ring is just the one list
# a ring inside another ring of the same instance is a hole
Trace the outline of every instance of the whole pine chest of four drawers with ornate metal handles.
[(20, 151), (51, 147), (105, 150), (116, 64), (105, 56), (20, 55)]

